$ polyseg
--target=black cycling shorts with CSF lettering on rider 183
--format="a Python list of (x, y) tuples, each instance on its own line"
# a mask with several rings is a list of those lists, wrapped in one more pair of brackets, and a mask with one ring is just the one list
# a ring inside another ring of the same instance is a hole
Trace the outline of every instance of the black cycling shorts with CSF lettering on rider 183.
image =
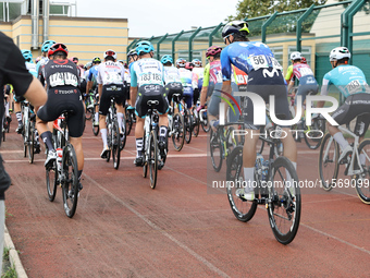
[[(169, 111), (169, 101), (164, 96), (164, 87), (161, 85), (145, 85), (139, 87), (135, 104), (135, 113), (145, 118), (148, 110), (155, 108), (160, 114)], [(158, 100), (157, 106), (150, 107), (148, 100)]]

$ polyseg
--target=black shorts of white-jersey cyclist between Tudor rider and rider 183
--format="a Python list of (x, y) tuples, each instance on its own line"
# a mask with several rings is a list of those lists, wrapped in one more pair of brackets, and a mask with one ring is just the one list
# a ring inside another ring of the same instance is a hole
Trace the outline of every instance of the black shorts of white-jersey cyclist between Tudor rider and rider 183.
[(118, 105), (126, 102), (126, 94), (122, 84), (110, 84), (102, 86), (101, 98), (99, 102), (99, 114), (107, 116), (112, 97), (115, 98), (115, 102)]

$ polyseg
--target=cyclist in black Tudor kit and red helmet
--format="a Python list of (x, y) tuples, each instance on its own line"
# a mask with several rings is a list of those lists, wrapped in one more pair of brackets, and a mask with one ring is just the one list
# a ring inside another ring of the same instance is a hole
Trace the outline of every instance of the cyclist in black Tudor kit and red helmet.
[[(69, 50), (63, 44), (54, 44), (49, 49), (49, 57), (53, 56), (45, 68), (44, 76), (47, 84), (48, 100), (37, 112), (37, 129), (48, 147), (45, 167), (50, 167), (57, 159), (57, 152), (52, 144), (52, 134), (48, 130), (48, 122), (57, 120), (64, 110), (70, 112), (67, 128), (70, 141), (73, 145), (78, 166), (78, 181), (84, 169), (84, 152), (82, 135), (84, 132), (84, 106), (78, 89), (79, 75), (77, 67), (67, 60)], [(79, 182), (79, 190), (82, 184)]]

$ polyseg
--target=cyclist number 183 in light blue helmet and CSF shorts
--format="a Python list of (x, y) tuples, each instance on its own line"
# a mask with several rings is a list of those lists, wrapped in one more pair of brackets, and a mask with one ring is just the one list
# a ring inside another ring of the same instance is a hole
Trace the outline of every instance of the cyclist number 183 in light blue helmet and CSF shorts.
[[(131, 68), (131, 99), (136, 99), (137, 121), (135, 126), (136, 137), (136, 166), (143, 166), (143, 136), (144, 118), (148, 112), (148, 100), (158, 100), (156, 107), (159, 113), (159, 148), (161, 155), (166, 149), (166, 134), (169, 120), (166, 112), (169, 102), (164, 96), (164, 69), (160, 61), (153, 59), (155, 48), (150, 41), (143, 40), (136, 44), (139, 60)], [(136, 95), (138, 97), (136, 98)]]

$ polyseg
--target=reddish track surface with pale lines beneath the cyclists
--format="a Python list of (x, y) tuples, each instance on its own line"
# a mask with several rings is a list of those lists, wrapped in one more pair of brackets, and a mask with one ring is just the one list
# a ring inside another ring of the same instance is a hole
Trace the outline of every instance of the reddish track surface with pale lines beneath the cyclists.
[[(151, 190), (143, 169), (133, 165), (133, 135), (114, 170), (99, 158), (101, 138), (88, 123), (84, 190), (69, 219), (60, 189), (55, 201), (48, 201), (45, 155), (29, 165), (14, 129), (13, 122), (1, 147), (13, 181), (7, 226), (29, 277), (368, 276), (370, 207), (355, 189), (304, 190), (297, 237), (284, 246), (263, 207), (244, 223), (223, 191), (207, 190), (207, 173), (214, 172), (207, 167), (205, 133), (180, 153), (171, 143)], [(316, 180), (318, 150), (298, 146), (299, 179)]]

